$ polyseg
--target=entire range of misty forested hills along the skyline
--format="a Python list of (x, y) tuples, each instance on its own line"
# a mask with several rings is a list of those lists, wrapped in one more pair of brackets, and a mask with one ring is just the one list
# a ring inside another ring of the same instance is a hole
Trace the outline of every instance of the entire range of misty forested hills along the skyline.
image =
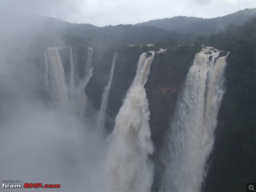
[[(157, 27), (122, 24), (96, 27), (91, 24), (69, 23), (44, 16), (8, 15), (6, 13), (0, 13), (0, 15), (2, 33), (5, 34), (6, 31), (5, 35), (11, 35), (9, 31), (18, 30), (20, 32), (19, 40), (13, 36), (12, 42), (7, 44), (16, 45), (17, 41), (21, 41), (19, 42), (20, 44), (32, 42), (36, 46), (40, 45), (40, 47), (46, 48), (58, 46), (156, 44), (167, 38), (175, 39), (178, 44), (189, 44), (197, 36), (217, 32), (229, 24), (242, 25), (248, 18), (255, 16), (255, 9), (245, 9), (214, 19), (179, 16), (149, 21), (149, 23), (153, 24), (155, 22), (155, 25), (158, 25)], [(9, 22), (6, 22), (5, 18), (8, 18)], [(29, 30), (27, 30), (28, 28)], [(192, 33), (194, 34), (191, 35)]]

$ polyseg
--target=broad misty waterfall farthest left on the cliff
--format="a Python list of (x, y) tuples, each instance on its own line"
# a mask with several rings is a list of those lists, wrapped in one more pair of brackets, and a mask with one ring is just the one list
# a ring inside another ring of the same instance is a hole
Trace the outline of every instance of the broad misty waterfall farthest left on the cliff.
[(47, 48), (47, 53), (48, 57), (45, 57), (47, 94), (49, 94), (49, 98), (52, 100), (67, 100), (68, 87), (65, 82), (64, 68), (58, 48)]

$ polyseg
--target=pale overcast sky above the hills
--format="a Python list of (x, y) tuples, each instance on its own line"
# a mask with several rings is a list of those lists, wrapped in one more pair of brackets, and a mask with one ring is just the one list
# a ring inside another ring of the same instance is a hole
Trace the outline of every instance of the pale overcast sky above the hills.
[(255, 8), (255, 0), (0, 0), (1, 12), (39, 14), (99, 27), (179, 15), (214, 18), (245, 8)]

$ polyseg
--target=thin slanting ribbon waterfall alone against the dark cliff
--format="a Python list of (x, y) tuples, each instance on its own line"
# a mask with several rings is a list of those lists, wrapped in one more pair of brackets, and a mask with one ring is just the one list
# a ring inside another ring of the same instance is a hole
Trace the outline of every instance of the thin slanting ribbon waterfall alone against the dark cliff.
[[(117, 54), (117, 52), (116, 52), (116, 54)], [(115, 69), (116, 54), (115, 54), (113, 62), (112, 62), (112, 67), (111, 67), (111, 72), (110, 72), (110, 77), (109, 77), (109, 80), (108, 80), (108, 84), (104, 87), (104, 91), (103, 91), (102, 98), (101, 98), (100, 115), (99, 115), (99, 120), (98, 120), (98, 123), (97, 123), (98, 130), (102, 130), (104, 128), (105, 113), (106, 113), (106, 108), (107, 108), (107, 105), (108, 105), (109, 89), (110, 89), (111, 84), (112, 84), (112, 78), (113, 78), (114, 69)]]

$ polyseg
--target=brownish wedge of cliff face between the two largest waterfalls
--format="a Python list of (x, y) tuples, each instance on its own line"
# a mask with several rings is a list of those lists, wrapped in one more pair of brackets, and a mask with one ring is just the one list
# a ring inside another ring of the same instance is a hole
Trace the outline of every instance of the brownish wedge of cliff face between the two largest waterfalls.
[(155, 54), (145, 85), (150, 110), (150, 127), (156, 148), (161, 147), (164, 132), (175, 108), (196, 50), (180, 47)]

